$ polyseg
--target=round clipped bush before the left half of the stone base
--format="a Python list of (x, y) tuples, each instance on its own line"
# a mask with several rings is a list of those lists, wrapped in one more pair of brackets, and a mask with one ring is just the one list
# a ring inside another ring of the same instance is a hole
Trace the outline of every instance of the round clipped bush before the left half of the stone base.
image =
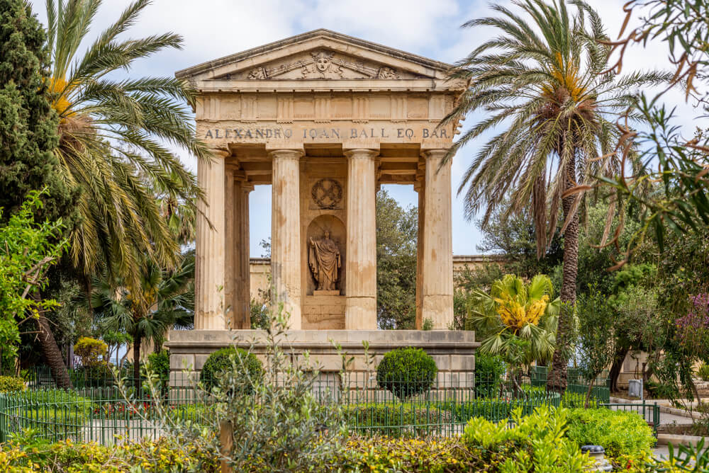
[[(263, 367), (253, 353), (229, 346), (220, 348), (209, 355), (202, 367), (199, 380), (202, 382), (204, 389), (209, 392), (218, 385), (220, 378), (227, 371), (233, 372), (235, 377), (246, 376), (255, 380), (262, 376)], [(242, 387), (246, 392), (253, 391), (250, 385), (243, 384)]]

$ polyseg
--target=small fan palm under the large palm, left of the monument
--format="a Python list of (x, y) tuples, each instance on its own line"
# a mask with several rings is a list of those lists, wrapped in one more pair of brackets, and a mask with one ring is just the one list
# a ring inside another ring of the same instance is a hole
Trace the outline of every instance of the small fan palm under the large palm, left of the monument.
[(186, 253), (174, 270), (162, 270), (145, 259), (137, 290), (116, 288), (108, 278), (96, 279), (91, 307), (102, 329), (133, 337), (133, 377), (138, 380), (143, 341), (152, 341), (159, 351), (167, 331), (194, 323), (194, 251)]

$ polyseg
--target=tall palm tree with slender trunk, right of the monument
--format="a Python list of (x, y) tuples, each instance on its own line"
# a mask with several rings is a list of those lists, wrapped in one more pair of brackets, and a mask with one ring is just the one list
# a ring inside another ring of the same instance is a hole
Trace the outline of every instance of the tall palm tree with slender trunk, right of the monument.
[[(564, 236), (562, 315), (552, 363), (551, 388), (566, 387), (571, 317), (576, 302), (579, 210), (586, 183), (610, 176), (618, 166), (613, 154), (615, 118), (632, 103), (640, 86), (666, 79), (657, 72), (617, 76), (604, 72), (610, 47), (601, 18), (584, 1), (571, 16), (563, 1), (517, 0), (525, 15), (493, 5), (501, 16), (465, 23), (500, 30), (463, 59), (450, 76), (469, 88), (444, 122), (456, 122), (483, 109), (488, 116), (464, 132), (448, 159), (486, 132), (501, 130), (479, 148), (464, 173), (467, 218), (485, 209), (483, 224), (508, 199), (503, 215), (532, 212), (537, 256), (557, 229), (559, 205)], [(600, 156), (600, 157), (599, 157)], [(531, 203), (531, 204), (530, 204)]]

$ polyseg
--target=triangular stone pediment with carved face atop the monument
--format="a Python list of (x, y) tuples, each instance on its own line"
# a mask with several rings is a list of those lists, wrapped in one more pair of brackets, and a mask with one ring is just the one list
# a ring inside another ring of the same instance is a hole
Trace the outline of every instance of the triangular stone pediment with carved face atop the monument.
[(175, 74), (193, 81), (445, 79), (449, 64), (315, 30), (216, 59)]

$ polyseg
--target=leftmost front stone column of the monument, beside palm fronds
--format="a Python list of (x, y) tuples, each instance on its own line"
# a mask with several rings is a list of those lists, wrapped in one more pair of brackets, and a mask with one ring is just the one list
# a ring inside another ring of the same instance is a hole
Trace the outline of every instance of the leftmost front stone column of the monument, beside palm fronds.
[[(197, 180), (204, 193), (198, 200), (195, 265), (196, 330), (225, 328), (224, 266), (225, 266), (225, 169), (230, 153), (213, 149), (210, 161), (197, 163)], [(211, 225), (210, 225), (211, 224)]]

